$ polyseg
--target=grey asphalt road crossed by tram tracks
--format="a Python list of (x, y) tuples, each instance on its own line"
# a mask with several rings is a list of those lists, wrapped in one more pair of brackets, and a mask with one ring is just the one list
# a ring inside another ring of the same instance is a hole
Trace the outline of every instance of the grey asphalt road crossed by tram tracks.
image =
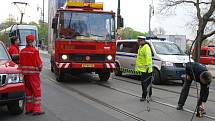
[[(49, 55), (41, 55), (44, 62), (41, 74), (42, 104), (46, 114), (13, 116), (5, 108), (1, 108), (0, 121), (190, 121), (192, 117), (192, 113), (188, 111), (175, 109), (181, 90), (178, 82), (154, 86), (153, 101), (147, 104), (139, 102), (140, 82), (130, 75), (123, 77), (112, 75), (105, 83), (99, 82), (97, 75), (68, 74), (65, 82), (58, 83), (50, 71)], [(213, 81), (206, 105), (207, 115), (212, 118), (194, 117), (193, 121), (215, 120), (214, 87)], [(196, 105), (195, 88), (191, 88), (190, 95), (184, 108), (193, 111)], [(149, 112), (146, 110), (147, 107), (150, 108)]]

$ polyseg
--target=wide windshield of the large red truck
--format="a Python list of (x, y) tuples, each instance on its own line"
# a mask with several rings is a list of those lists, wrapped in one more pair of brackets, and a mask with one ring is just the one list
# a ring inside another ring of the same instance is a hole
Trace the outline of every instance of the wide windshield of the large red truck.
[(112, 14), (63, 11), (59, 37), (81, 41), (111, 41), (115, 38)]

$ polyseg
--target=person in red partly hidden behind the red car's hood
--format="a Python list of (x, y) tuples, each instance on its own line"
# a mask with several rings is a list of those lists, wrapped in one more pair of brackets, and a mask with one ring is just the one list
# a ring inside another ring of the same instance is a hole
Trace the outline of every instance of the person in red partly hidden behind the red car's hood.
[(10, 54), (10, 56), (17, 56), (19, 57), (19, 40), (16, 36), (13, 36), (10, 38), (11, 41), (11, 46), (8, 49), (8, 52)]

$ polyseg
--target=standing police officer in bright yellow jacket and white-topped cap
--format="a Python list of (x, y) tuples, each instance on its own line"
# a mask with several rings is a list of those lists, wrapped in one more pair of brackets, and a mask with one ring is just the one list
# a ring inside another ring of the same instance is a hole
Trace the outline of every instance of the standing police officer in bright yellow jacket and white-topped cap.
[[(139, 49), (136, 59), (135, 70), (141, 72), (141, 85), (142, 85), (142, 97), (140, 101), (146, 100), (147, 88), (151, 83), (152, 76), (152, 51), (146, 38), (138, 37)], [(150, 88), (149, 95), (152, 95), (152, 89)]]

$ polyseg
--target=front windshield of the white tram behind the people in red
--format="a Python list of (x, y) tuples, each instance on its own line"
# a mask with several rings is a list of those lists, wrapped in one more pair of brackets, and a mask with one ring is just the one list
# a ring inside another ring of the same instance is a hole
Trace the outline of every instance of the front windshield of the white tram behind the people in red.
[[(20, 41), (20, 46), (25, 46), (26, 45), (26, 40), (25, 37), (29, 34), (33, 34), (35, 37), (36, 36), (36, 30), (33, 29), (19, 29), (19, 41)], [(37, 40), (37, 38), (35, 38), (35, 40)], [(36, 41), (35, 45), (36, 45)]]

